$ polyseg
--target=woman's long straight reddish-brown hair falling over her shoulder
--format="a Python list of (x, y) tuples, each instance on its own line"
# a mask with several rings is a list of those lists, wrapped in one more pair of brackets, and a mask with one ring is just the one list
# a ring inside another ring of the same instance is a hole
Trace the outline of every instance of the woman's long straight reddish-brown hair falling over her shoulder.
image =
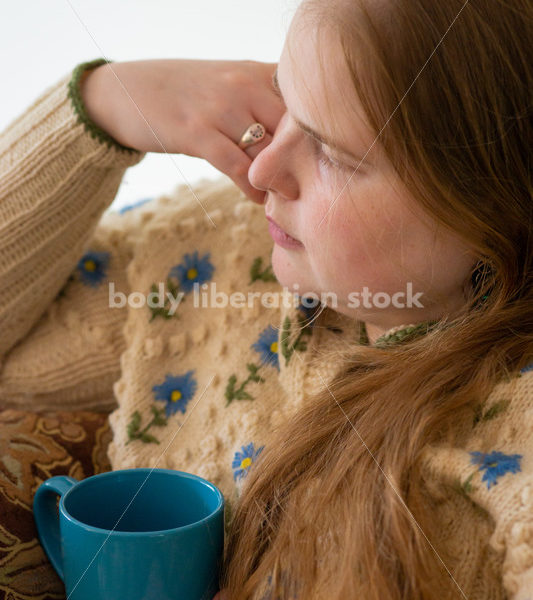
[(272, 432), (235, 507), (221, 583), (231, 600), (267, 588), (272, 600), (456, 598), (417, 461), (427, 444), (453, 442), (533, 354), (532, 4), (307, 0), (298, 10), (337, 37), (413, 197), (491, 278), (465, 282), (464, 310), (427, 335), (339, 356), (330, 389), (342, 411), (323, 390)]

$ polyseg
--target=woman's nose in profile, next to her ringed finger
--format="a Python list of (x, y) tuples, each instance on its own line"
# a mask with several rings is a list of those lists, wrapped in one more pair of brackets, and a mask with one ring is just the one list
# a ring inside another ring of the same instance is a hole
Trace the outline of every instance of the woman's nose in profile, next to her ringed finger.
[(291, 159), (291, 147), (294, 151), (294, 144), (289, 143), (280, 122), (270, 144), (261, 150), (248, 169), (248, 179), (253, 187), (287, 199), (298, 197), (297, 170)]

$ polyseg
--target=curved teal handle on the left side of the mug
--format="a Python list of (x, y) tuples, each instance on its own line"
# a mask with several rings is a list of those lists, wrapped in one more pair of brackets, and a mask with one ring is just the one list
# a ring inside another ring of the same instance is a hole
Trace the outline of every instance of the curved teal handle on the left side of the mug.
[(50, 477), (50, 479), (41, 483), (33, 498), (33, 518), (37, 525), (39, 539), (52, 566), (63, 582), (65, 577), (61, 558), (61, 533), (56, 509), (56, 496), (63, 496), (76, 483), (78, 483), (77, 479), (67, 475)]

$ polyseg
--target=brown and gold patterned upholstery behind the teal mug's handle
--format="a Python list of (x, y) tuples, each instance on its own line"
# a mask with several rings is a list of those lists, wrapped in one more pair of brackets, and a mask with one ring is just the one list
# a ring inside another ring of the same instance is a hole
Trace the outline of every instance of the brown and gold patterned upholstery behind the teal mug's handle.
[(107, 413), (0, 410), (0, 600), (64, 600), (38, 536), (33, 497), (55, 475), (111, 470)]

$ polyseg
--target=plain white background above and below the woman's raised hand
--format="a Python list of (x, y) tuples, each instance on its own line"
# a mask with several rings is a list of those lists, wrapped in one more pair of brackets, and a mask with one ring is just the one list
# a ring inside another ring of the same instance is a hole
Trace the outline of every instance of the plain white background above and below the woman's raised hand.
[[(0, 0), (0, 130), (77, 64), (95, 58), (277, 62), (299, 2)], [(184, 178), (193, 184), (219, 175), (199, 158), (149, 153), (127, 170), (112, 208), (169, 192)]]

